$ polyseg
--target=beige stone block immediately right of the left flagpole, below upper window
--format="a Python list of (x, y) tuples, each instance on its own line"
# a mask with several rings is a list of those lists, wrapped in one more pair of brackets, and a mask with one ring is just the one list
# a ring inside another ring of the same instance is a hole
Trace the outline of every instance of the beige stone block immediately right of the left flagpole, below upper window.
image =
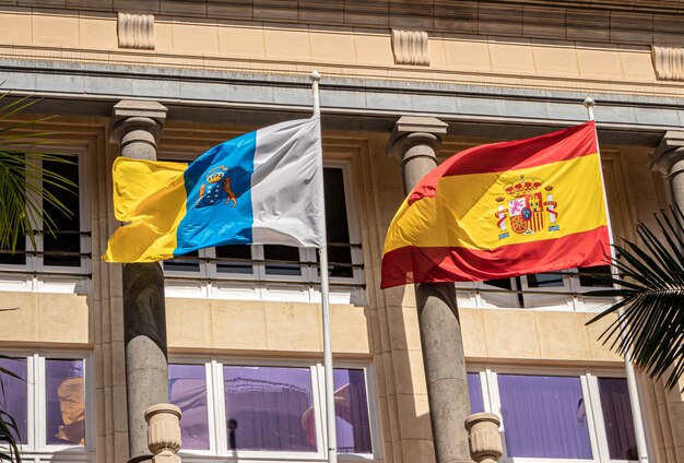
[(370, 354), (367, 312), (368, 309), (363, 306), (334, 305), (330, 307), (332, 352)]

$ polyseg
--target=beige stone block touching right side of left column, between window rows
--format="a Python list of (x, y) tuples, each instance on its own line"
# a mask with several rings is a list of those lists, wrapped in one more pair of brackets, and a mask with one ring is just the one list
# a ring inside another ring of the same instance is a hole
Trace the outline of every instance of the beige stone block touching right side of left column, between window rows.
[(210, 301), (167, 298), (166, 336), (170, 348), (212, 347)]

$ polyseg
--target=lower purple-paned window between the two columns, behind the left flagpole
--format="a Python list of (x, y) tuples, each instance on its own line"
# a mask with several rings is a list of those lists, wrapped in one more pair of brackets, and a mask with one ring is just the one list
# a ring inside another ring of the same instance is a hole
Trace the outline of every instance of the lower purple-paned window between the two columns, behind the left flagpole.
[[(333, 371), (338, 452), (373, 459), (368, 368)], [(182, 452), (245, 458), (323, 458), (320, 364), (174, 363), (169, 401), (182, 411)]]

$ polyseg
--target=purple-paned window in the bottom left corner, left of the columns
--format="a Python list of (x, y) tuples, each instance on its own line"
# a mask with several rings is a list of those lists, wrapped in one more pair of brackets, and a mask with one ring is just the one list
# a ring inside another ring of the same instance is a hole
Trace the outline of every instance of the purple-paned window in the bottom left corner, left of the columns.
[[(87, 361), (59, 355), (8, 355), (0, 367), (21, 379), (3, 376), (0, 404), (15, 418), (22, 458), (33, 452), (80, 452), (92, 447)], [(90, 460), (90, 456), (86, 458)]]

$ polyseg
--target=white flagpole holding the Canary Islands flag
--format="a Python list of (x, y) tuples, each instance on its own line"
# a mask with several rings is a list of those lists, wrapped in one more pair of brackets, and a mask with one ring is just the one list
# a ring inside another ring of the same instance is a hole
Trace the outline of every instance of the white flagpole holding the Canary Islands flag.
[[(320, 74), (318, 71), (311, 72), (311, 82), (314, 84), (314, 116), (320, 117), (320, 94), (318, 82)], [(320, 133), (320, 120), (318, 123), (318, 139), (322, 143)], [(322, 151), (321, 151), (322, 156)], [(319, 171), (321, 182), (323, 181), (323, 161), (320, 159)], [(326, 214), (323, 212), (323, 218)], [(325, 227), (325, 225), (323, 225)], [(323, 228), (325, 230), (325, 228)], [(325, 235), (326, 245), (328, 236)], [(338, 435), (335, 430), (334, 416), (334, 387), (332, 384), (332, 348), (330, 346), (330, 297), (328, 283), (328, 248), (326, 246), (318, 249), (320, 257), (320, 298), (323, 319), (323, 369), (326, 371), (326, 418), (327, 418), (327, 442), (328, 442), (328, 463), (338, 463)]]

